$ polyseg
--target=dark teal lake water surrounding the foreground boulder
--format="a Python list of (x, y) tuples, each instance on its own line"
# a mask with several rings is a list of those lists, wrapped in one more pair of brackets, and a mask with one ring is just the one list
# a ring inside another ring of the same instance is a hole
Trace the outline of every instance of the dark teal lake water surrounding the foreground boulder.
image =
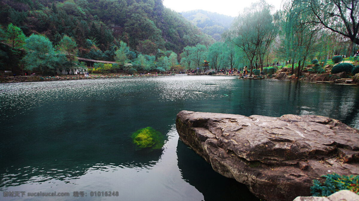
[[(187, 76), (0, 85), (0, 196), (83, 191), (78, 200), (257, 200), (179, 141), (181, 110), (327, 116), (359, 128), (359, 88), (290, 80)], [(153, 127), (162, 149), (137, 150)], [(118, 197), (90, 196), (118, 191)], [(17, 198), (19, 199), (19, 198)], [(49, 197), (27, 197), (48, 200)]]

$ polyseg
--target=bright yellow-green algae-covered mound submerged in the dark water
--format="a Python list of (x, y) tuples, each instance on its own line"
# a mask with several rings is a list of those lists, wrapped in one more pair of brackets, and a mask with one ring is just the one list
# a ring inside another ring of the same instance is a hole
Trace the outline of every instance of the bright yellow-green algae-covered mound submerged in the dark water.
[(161, 149), (164, 145), (164, 137), (152, 127), (139, 129), (134, 132), (131, 137), (137, 149)]

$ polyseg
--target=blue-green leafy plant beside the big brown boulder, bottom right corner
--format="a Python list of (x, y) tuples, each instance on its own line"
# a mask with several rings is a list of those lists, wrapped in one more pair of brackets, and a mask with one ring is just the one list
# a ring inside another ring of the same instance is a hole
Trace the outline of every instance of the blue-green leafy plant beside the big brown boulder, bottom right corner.
[(340, 190), (350, 190), (359, 195), (359, 176), (340, 176), (338, 174), (327, 174), (322, 184), (318, 180), (313, 180), (311, 186), (312, 196), (330, 196)]

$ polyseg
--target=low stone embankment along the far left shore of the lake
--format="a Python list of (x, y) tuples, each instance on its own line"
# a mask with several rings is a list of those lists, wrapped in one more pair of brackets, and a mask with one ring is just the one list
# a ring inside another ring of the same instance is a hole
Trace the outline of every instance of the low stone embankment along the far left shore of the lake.
[(56, 81), (56, 80), (79, 80), (79, 79), (96, 79), (96, 78), (126, 78), (126, 77), (152, 77), (152, 76), (167, 76), (174, 74), (158, 74), (158, 75), (121, 75), (121, 74), (90, 74), (89, 77), (83, 75), (61, 75), (61, 76), (5, 76), (0, 77), (0, 83), (12, 82), (38, 82), (38, 81)]

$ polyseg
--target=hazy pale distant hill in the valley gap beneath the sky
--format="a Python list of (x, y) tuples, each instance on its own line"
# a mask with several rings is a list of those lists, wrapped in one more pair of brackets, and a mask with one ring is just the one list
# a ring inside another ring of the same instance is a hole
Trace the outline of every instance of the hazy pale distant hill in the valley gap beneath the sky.
[(191, 10), (181, 13), (183, 17), (190, 20), (203, 33), (211, 35), (215, 40), (220, 40), (223, 31), (227, 30), (234, 17), (212, 13), (205, 10)]

